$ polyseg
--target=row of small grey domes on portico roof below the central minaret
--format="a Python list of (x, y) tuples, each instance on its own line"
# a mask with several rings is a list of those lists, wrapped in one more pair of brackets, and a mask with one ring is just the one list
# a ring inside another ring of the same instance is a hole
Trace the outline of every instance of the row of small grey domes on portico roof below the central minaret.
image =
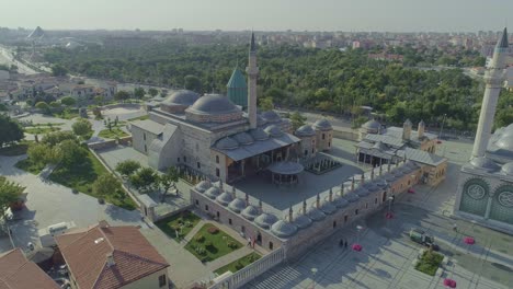
[(216, 143), (216, 148), (220, 150), (235, 150), (240, 146), (248, 146), (255, 141), (266, 140), (271, 138), (278, 138), (283, 136), (282, 129), (276, 125), (270, 125), (266, 128), (254, 128), (248, 132), (242, 131), (229, 137), (219, 139)]

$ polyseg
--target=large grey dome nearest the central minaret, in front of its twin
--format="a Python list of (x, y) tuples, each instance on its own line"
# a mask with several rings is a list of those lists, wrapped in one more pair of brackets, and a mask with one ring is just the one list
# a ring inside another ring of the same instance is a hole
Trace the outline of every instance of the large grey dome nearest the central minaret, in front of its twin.
[(229, 114), (240, 112), (240, 109), (228, 100), (225, 95), (220, 94), (206, 94), (200, 97), (189, 109), (195, 114)]

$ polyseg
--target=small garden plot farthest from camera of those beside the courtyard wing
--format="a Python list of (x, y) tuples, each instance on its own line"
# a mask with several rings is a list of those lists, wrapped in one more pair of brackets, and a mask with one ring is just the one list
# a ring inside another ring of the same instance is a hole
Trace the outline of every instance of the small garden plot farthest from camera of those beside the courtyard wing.
[[(171, 216), (163, 220), (157, 221), (155, 224), (160, 228), (167, 235), (176, 240), (176, 231), (179, 231), (179, 238), (182, 239), (191, 232), (191, 230), (196, 227), (201, 218), (196, 215), (184, 211), (176, 216)], [(181, 229), (180, 229), (181, 228)]]

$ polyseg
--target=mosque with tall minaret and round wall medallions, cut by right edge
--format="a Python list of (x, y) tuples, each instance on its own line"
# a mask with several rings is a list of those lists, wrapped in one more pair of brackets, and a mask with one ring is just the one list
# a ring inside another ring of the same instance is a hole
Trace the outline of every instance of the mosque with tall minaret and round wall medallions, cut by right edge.
[(455, 215), (482, 226), (513, 232), (513, 124), (491, 134), (506, 68), (508, 31), (495, 45), (485, 74), (476, 140), (470, 161), (463, 165)]

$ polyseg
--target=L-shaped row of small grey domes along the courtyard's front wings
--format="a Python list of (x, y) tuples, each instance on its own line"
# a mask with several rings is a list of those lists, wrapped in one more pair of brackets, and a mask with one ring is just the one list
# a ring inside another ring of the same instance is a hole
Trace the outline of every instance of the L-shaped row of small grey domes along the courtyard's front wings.
[[(310, 208), (307, 207), (305, 200), (301, 211), (298, 211), (295, 215), (293, 213), (292, 222), (290, 220), (281, 220), (275, 215), (264, 212), (261, 208), (249, 205), (247, 200), (236, 197), (235, 192), (231, 194), (224, 192), (208, 181), (202, 181), (195, 186), (195, 189), (201, 194), (204, 194), (209, 199), (227, 207), (229, 210), (240, 213), (247, 220), (253, 221), (260, 228), (271, 230), (274, 235), (278, 238), (288, 238), (294, 235), (298, 230), (308, 228), (314, 221), (321, 221), (328, 215), (333, 215), (337, 210), (346, 208), (350, 204), (358, 201), (360, 198), (386, 189), (389, 183), (410, 174), (417, 169), (418, 166), (410, 162), (407, 165), (395, 169), (389, 174), (364, 183), (364, 185), (356, 187), (354, 190), (349, 192), (343, 196), (341, 196), (341, 190), (343, 189), (342, 186), (344, 185), (342, 184), (340, 188), (335, 188), (334, 190), (330, 189), (330, 196), (324, 197), (322, 203), (320, 201), (320, 195), (317, 195), (317, 200), (311, 204)], [(318, 208), (317, 203), (319, 203)]]

